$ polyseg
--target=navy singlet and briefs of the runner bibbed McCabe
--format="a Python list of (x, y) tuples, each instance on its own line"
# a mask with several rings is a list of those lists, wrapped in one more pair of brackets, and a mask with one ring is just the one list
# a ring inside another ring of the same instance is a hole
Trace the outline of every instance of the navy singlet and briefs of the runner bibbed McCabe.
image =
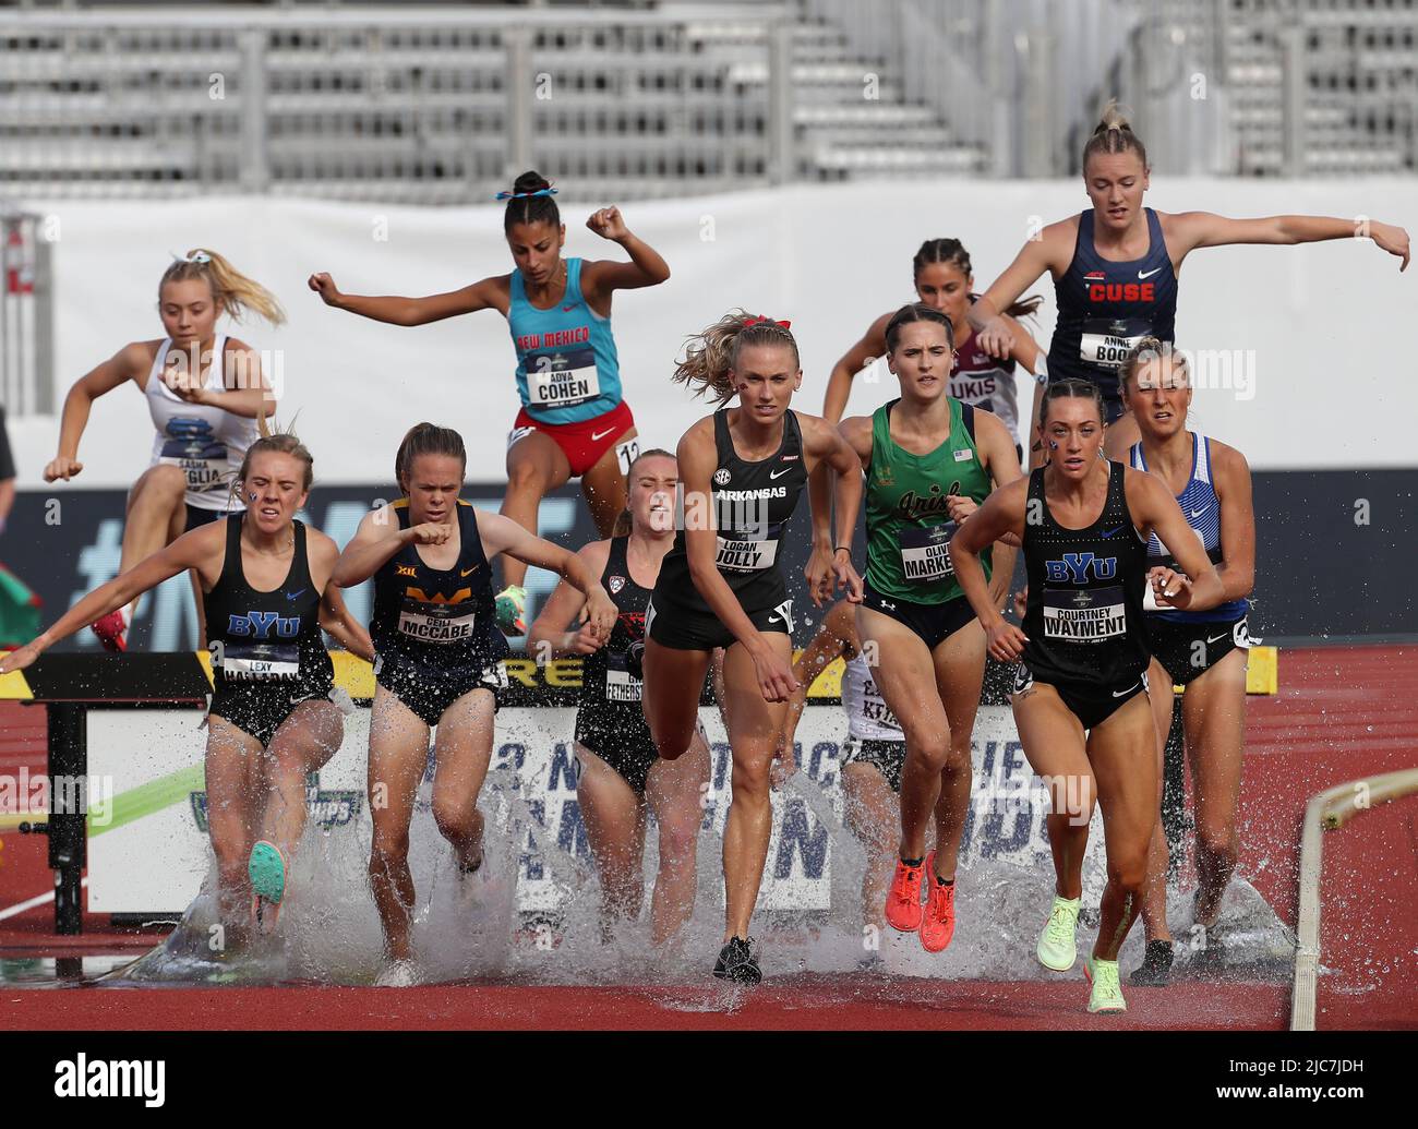
[[(408, 499), (391, 509), (407, 529)], [(506, 688), (508, 643), (493, 616), (476, 509), (459, 498), (457, 516), (459, 552), (451, 569), (430, 567), (417, 545), (406, 545), (374, 573), (374, 677), (430, 726), (464, 694), (482, 686), (496, 696)]]

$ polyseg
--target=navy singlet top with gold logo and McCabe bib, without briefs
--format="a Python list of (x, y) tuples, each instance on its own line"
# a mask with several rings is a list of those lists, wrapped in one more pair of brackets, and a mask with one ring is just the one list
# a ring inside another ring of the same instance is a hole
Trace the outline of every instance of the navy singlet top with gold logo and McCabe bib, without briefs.
[[(408, 529), (408, 499), (391, 505)], [(476, 674), (508, 652), (493, 614), (492, 577), (478, 535), (478, 511), (458, 501), (458, 559), (434, 569), (406, 545), (374, 573), (370, 640), (380, 655), (404, 655), (445, 672)]]

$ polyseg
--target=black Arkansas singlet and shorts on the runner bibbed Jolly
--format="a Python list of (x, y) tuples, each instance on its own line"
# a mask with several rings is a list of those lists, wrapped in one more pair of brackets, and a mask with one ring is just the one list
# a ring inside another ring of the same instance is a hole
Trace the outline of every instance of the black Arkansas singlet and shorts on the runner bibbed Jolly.
[[(784, 416), (777, 452), (757, 462), (739, 458), (726, 413), (727, 408), (720, 408), (713, 416), (718, 451), (710, 501), (718, 528), (715, 563), (759, 631), (791, 635), (793, 601), (778, 564), (778, 549), (783, 529), (807, 485), (797, 413), (790, 408)], [(682, 509), (676, 515), (679, 532), (675, 547), (659, 566), (645, 630), (665, 647), (729, 647), (733, 633), (719, 623), (695, 587), (685, 550), (685, 522), (706, 521), (706, 515), (683, 501), (678, 508)]]

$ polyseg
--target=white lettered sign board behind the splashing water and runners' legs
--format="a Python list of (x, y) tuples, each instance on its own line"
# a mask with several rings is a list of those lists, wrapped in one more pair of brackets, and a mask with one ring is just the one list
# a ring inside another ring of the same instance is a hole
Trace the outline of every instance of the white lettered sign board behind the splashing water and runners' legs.
[[(105, 823), (91, 818), (89, 824), (89, 912), (176, 915), (197, 896), (211, 864), (201, 718), (196, 709), (88, 712), (89, 774), (111, 786)], [(718, 838), (729, 807), (729, 746), (718, 709), (702, 708), (700, 718), (712, 749), (703, 830)], [(573, 725), (570, 708), (509, 706), (498, 713), (492, 772), (481, 806), (499, 834), (510, 833), (520, 842), (518, 906), (525, 912), (554, 911), (566, 896), (566, 875), (590, 872), (586, 824), (576, 800)], [(800, 770), (773, 796), (773, 838), (759, 898), (763, 911), (832, 908), (832, 845), (849, 834), (841, 825), (845, 736), (841, 706), (814, 705), (804, 712), (797, 732)], [(336, 850), (353, 860), (363, 860), (370, 842), (367, 747), (369, 709), (359, 709), (346, 721), (340, 750), (306, 784), (306, 835), (339, 837)], [(980, 709), (974, 774), (961, 867), (968, 871), (988, 860), (1048, 868), (1046, 796), (1024, 759), (1005, 706)], [(430, 789), (431, 766), (414, 814), (415, 835), (437, 835)], [(1093, 818), (1100, 821), (1096, 814)], [(1095, 827), (1085, 871), (1088, 896), (1102, 889), (1100, 845), (1100, 827)], [(700, 851), (713, 851), (718, 858), (718, 847), (708, 840)], [(715, 862), (710, 871), (716, 869)], [(363, 864), (352, 872), (363, 874)], [(722, 885), (716, 894), (722, 901)], [(299, 896), (299, 888), (294, 895)], [(357, 896), (367, 898), (367, 889), (360, 886)]]

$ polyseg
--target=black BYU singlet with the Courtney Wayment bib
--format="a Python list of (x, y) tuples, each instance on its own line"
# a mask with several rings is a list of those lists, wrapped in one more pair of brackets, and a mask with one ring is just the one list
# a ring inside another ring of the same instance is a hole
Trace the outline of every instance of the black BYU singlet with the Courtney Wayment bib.
[(1024, 662), (1042, 682), (1120, 685), (1147, 669), (1147, 546), (1127, 511), (1127, 471), (1120, 462), (1106, 465), (1107, 501), (1085, 529), (1054, 521), (1044, 498), (1044, 467), (1029, 475)]

